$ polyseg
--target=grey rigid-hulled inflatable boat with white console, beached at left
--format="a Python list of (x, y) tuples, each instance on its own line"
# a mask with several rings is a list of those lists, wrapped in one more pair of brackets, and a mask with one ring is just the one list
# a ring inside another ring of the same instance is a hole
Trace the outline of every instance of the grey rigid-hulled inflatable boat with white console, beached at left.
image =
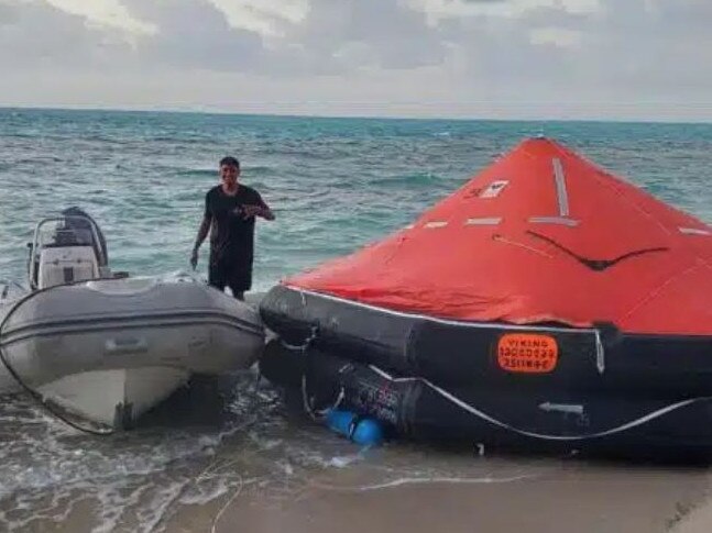
[(41, 221), (28, 263), (31, 290), (1, 291), (0, 395), (125, 429), (193, 375), (248, 368), (263, 349), (254, 308), (187, 276), (112, 274), (87, 216)]

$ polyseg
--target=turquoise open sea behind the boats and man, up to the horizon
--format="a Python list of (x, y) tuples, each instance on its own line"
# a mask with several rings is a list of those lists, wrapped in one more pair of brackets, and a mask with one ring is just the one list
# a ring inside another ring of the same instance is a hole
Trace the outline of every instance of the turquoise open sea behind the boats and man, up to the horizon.
[[(33, 224), (80, 206), (114, 269), (187, 268), (217, 160), (277, 213), (259, 224), (255, 289), (408, 223), (526, 136), (544, 133), (712, 220), (712, 125), (305, 119), (0, 110), (0, 279), (24, 277)], [(205, 273), (204, 251), (201, 271)]]

